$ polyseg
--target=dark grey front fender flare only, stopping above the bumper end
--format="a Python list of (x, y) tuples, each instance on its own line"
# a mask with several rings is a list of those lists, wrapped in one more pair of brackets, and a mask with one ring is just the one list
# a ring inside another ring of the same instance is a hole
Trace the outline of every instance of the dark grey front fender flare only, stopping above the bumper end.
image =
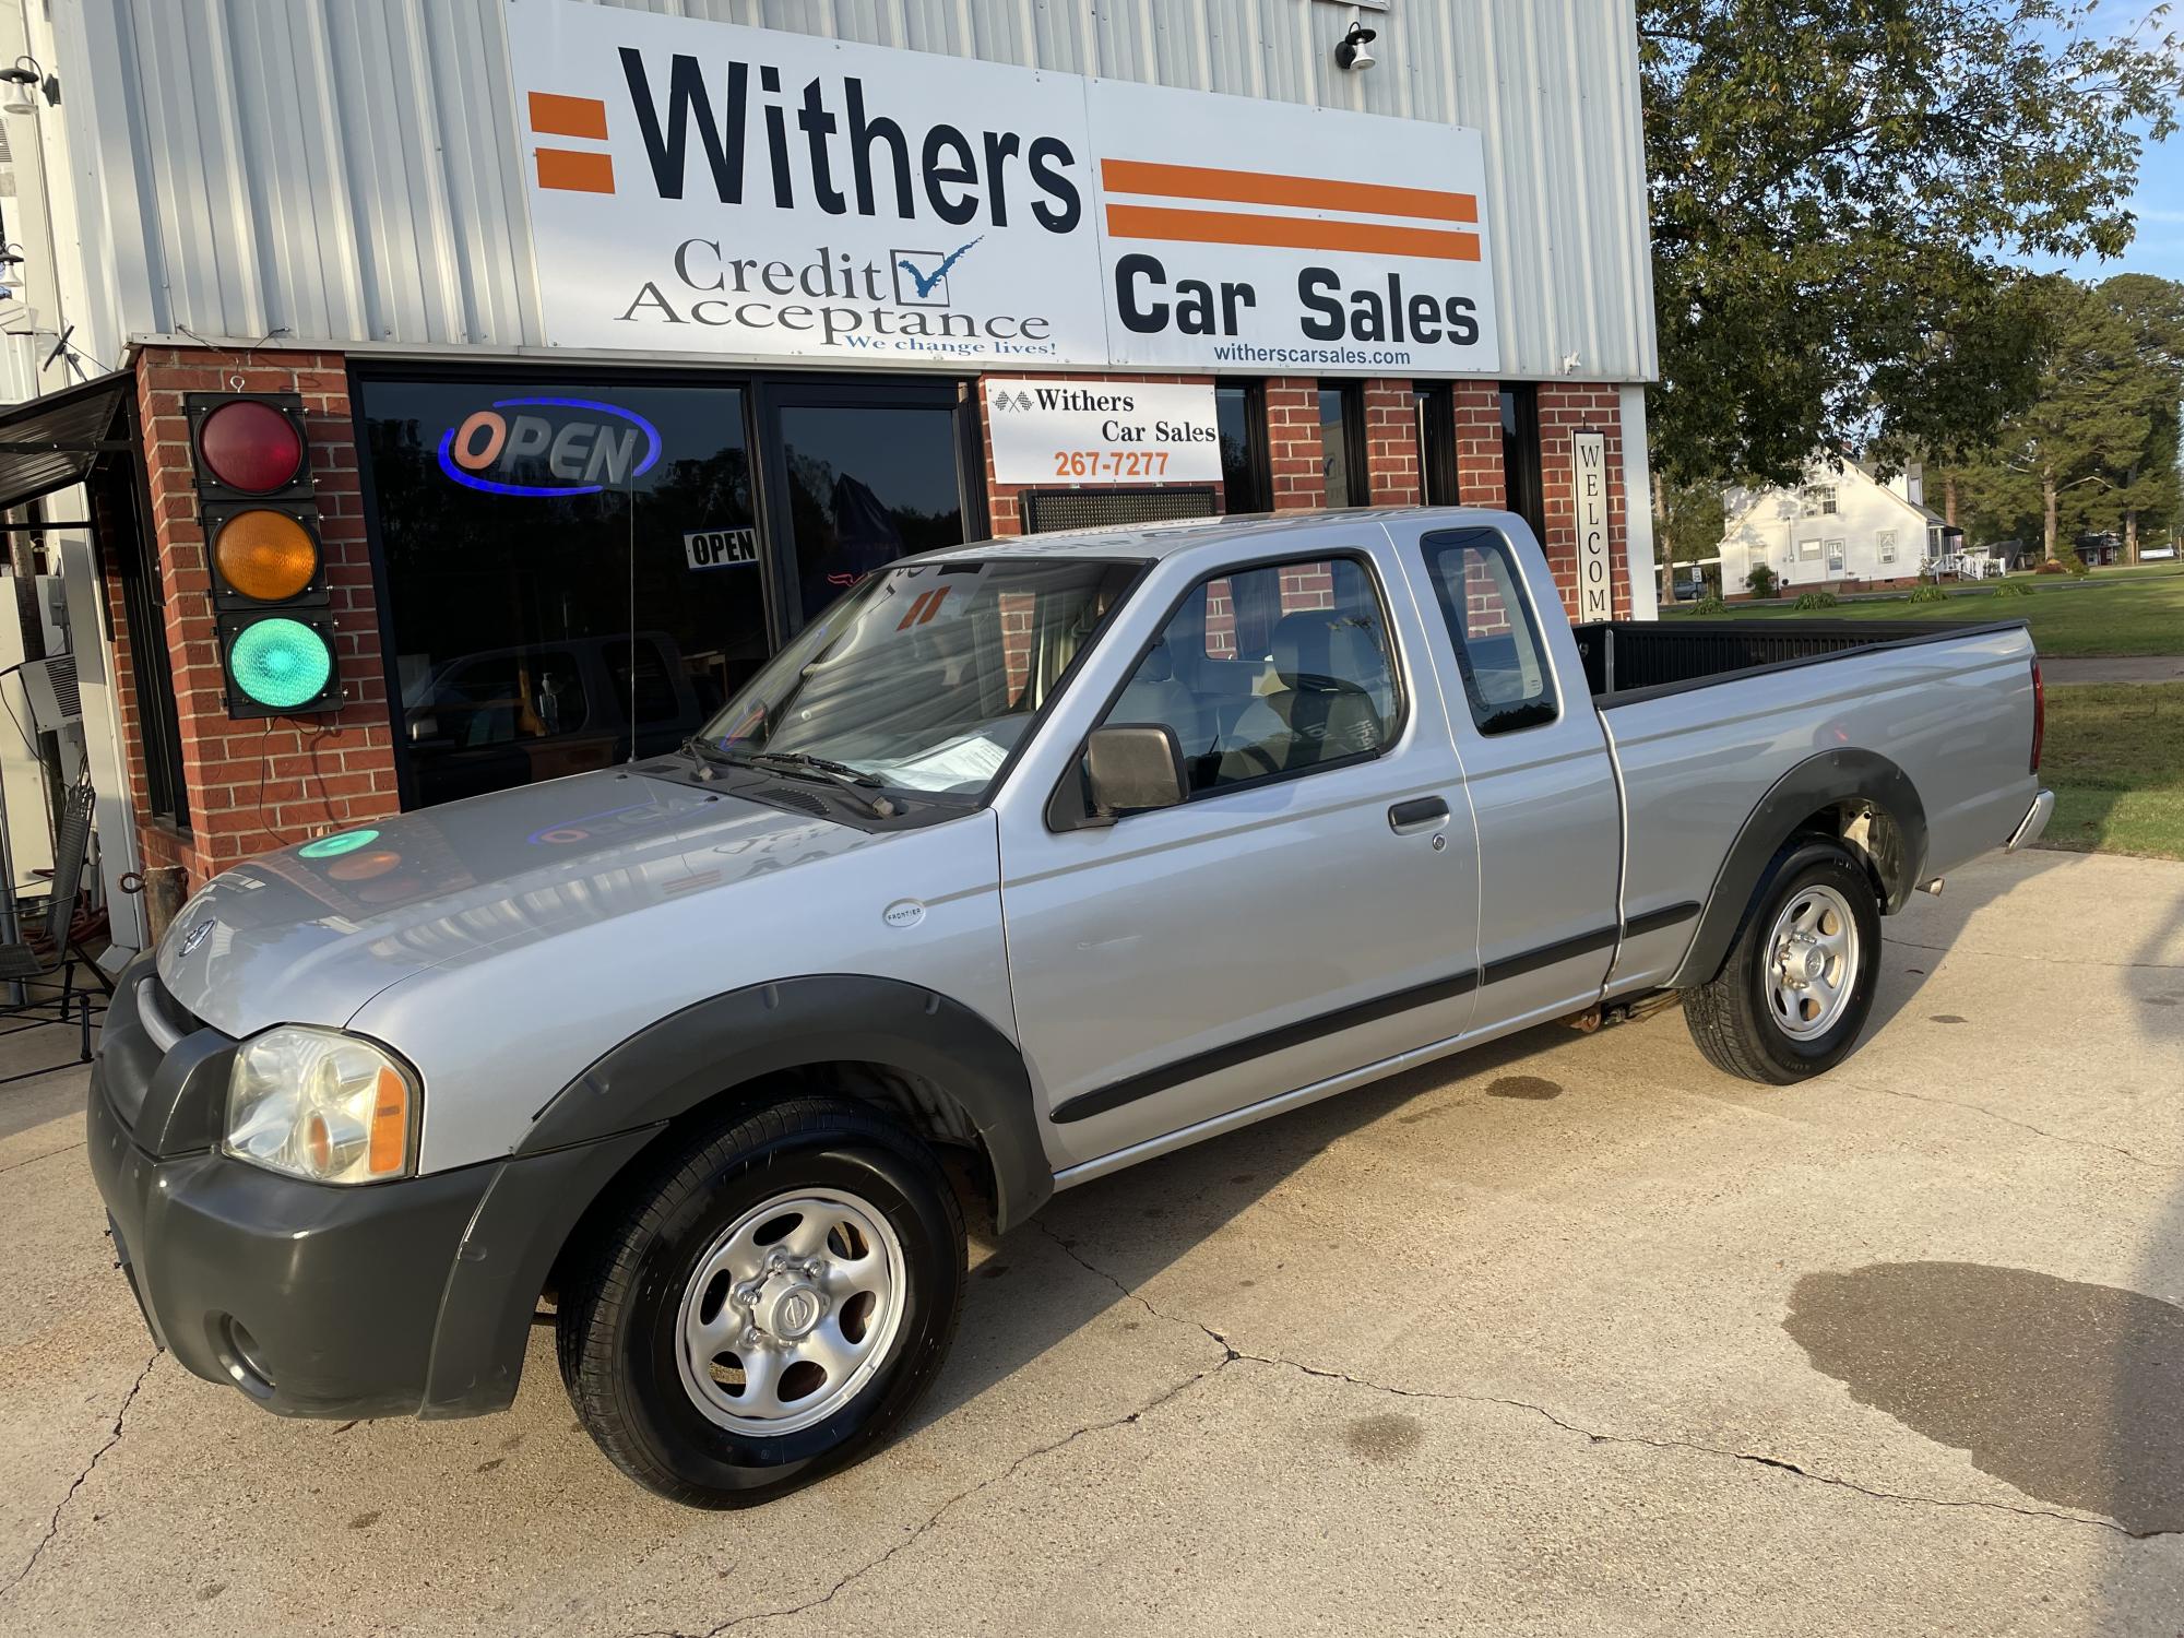
[(653, 1127), (808, 1064), (874, 1064), (952, 1099), (994, 1162), (998, 1227), (1016, 1227), (1055, 1192), (1016, 1042), (948, 996), (863, 974), (780, 978), (668, 1013), (561, 1088), (515, 1153)]

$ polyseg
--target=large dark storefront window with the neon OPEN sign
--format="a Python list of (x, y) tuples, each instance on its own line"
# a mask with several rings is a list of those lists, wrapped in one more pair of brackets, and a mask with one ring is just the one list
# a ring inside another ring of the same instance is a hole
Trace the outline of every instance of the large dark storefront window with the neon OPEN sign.
[(413, 804), (673, 749), (764, 664), (740, 387), (363, 380), (358, 408)]

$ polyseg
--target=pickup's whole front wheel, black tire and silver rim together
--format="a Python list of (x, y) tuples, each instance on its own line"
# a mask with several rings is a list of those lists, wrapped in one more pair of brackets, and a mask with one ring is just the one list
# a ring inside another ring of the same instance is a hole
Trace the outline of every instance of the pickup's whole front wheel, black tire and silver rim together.
[(640, 1485), (749, 1507), (863, 1459), (939, 1372), (963, 1216), (878, 1109), (795, 1096), (666, 1153), (563, 1284), (561, 1380)]

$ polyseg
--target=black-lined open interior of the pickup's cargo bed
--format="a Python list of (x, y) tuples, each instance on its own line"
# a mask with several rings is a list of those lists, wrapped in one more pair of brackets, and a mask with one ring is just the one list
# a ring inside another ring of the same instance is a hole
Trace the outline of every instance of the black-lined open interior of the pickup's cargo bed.
[(1572, 627), (1597, 705), (1811, 666), (1845, 653), (1911, 649), (2022, 627), (2022, 620), (1597, 620)]

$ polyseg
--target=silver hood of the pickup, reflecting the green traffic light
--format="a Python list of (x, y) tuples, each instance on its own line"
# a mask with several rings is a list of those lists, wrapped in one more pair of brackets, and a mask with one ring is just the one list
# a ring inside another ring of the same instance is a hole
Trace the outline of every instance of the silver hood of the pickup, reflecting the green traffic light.
[(229, 1035), (341, 1026), (428, 968), (889, 839), (640, 771), (579, 773), (236, 865), (166, 930), (159, 981)]

